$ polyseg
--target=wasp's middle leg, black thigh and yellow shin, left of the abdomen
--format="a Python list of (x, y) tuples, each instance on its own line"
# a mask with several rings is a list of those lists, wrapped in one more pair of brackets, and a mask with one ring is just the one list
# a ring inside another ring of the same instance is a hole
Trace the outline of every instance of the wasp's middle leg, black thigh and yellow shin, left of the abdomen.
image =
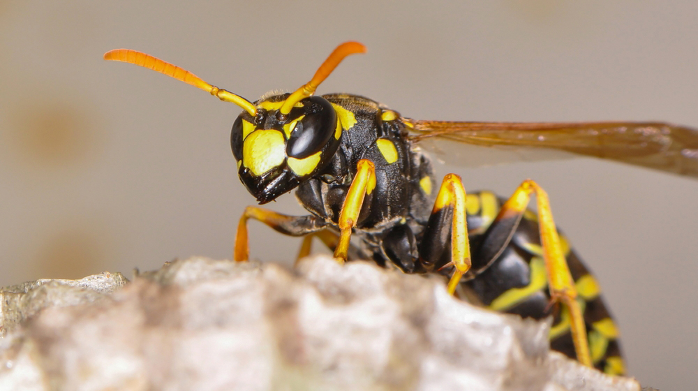
[[(450, 220), (450, 230), (448, 229)], [(448, 283), (448, 292), (453, 295), (463, 274), (470, 270), (470, 241), (466, 222), (466, 191), (461, 177), (446, 175), (436, 195), (436, 202), (424, 229), (419, 249), (422, 266), (433, 269), (445, 253), (448, 234), (451, 234), (451, 262), (454, 272)]]

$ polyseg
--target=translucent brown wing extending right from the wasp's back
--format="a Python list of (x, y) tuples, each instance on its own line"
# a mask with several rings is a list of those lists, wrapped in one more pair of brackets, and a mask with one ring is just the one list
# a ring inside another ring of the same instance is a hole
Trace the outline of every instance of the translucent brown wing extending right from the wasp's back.
[(698, 178), (698, 131), (661, 122), (403, 120), (413, 127), (410, 138), (415, 142), (440, 139), (514, 152), (529, 149), (524, 160), (551, 158), (550, 151), (569, 152)]

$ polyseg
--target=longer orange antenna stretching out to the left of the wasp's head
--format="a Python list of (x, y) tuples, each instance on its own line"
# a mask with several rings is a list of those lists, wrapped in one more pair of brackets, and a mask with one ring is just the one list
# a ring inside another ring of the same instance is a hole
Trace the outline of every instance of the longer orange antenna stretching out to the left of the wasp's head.
[(252, 102), (243, 98), (242, 96), (233, 94), (232, 92), (220, 89), (214, 85), (211, 85), (204, 80), (201, 80), (197, 75), (186, 71), (186, 69), (179, 68), (179, 66), (172, 65), (161, 59), (151, 56), (150, 54), (145, 54), (143, 52), (137, 52), (135, 50), (128, 49), (114, 49), (106, 52), (104, 54), (104, 59), (107, 61), (123, 61), (129, 64), (135, 64), (142, 66), (144, 68), (151, 69), (156, 72), (163, 73), (175, 78), (181, 82), (191, 84), (194, 87), (198, 87), (204, 91), (209, 92), (213, 96), (218, 96), (221, 101), (232, 102), (239, 105), (246, 112), (250, 113), (252, 117), (257, 115), (257, 108)]

